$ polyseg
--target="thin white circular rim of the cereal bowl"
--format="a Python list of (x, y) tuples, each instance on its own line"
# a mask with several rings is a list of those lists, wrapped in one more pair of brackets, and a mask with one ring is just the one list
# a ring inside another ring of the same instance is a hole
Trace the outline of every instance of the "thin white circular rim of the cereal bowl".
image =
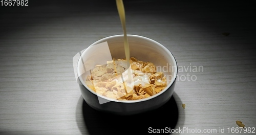
[[(123, 37), (123, 34), (120, 34), (120, 35), (112, 35), (112, 36), (108, 36), (108, 37), (104, 37), (104, 38), (101, 38), (97, 41), (95, 41), (94, 43), (92, 43), (89, 47), (91, 46), (94, 46), (95, 44), (98, 44), (98, 43), (101, 43), (102, 41), (106, 40), (106, 39), (109, 39), (109, 38), (115, 38), (115, 37)], [(85, 87), (89, 92), (91, 92), (92, 94), (96, 95), (98, 98), (101, 97), (102, 99), (105, 99), (105, 100), (109, 100), (111, 102), (119, 102), (119, 103), (137, 103), (137, 102), (143, 102), (143, 101), (147, 101), (147, 100), (151, 100), (159, 95), (161, 95), (162, 93), (164, 93), (165, 91), (167, 91), (167, 89), (169, 89), (176, 81), (176, 78), (177, 78), (177, 74), (178, 74), (178, 66), (177, 66), (177, 61), (174, 57), (174, 55), (166, 48), (164, 47), (161, 43), (151, 39), (151, 38), (148, 38), (148, 37), (144, 37), (144, 36), (140, 36), (140, 35), (133, 35), (133, 34), (127, 34), (127, 37), (137, 37), (137, 38), (143, 38), (145, 40), (148, 40), (148, 41), (151, 41), (151, 42), (154, 42), (155, 44), (157, 44), (159, 47), (161, 47), (162, 49), (164, 49), (168, 54), (169, 56), (172, 57), (173, 59), (173, 62), (175, 63), (175, 70), (176, 72), (174, 72), (174, 76), (175, 78), (172, 79), (172, 82), (170, 82), (160, 93), (156, 94), (156, 95), (153, 95), (151, 97), (148, 97), (148, 98), (144, 98), (144, 99), (138, 99), (138, 100), (118, 100), (118, 99), (112, 99), (112, 98), (108, 98), (108, 97), (105, 97), (105, 96), (102, 96), (102, 95), (98, 95), (96, 92), (94, 92), (90, 87), (88, 87), (86, 85), (85, 82), (82, 81), (82, 78), (79, 76), (79, 73), (80, 73), (80, 70), (78, 70), (78, 64), (79, 64), (79, 61), (81, 61), (81, 57), (83, 55), (83, 53), (85, 53), (87, 51), (87, 49), (89, 48), (86, 48), (83, 50), (83, 52), (81, 53), (81, 56), (79, 57), (78, 59), (78, 62), (77, 62), (77, 76), (78, 76), (78, 79), (79, 81), (82, 83), (82, 86)]]

